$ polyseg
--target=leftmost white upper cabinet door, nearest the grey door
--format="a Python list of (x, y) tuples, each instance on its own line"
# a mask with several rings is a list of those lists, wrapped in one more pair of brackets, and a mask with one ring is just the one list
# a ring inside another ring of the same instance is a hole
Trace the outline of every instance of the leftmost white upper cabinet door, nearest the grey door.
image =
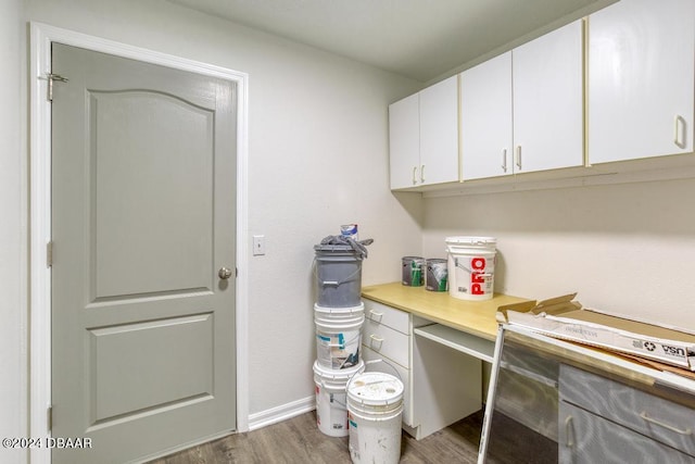
[(389, 106), (391, 189), (415, 187), (420, 165), (420, 105), (417, 93)]

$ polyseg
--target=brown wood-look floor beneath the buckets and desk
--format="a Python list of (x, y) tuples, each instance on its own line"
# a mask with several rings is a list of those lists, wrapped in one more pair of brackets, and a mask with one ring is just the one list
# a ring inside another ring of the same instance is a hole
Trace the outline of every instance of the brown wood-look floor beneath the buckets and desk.
[[(482, 411), (422, 440), (403, 432), (401, 463), (476, 463)], [(557, 443), (495, 413), (486, 464), (556, 464)], [(328, 437), (309, 412), (258, 430), (230, 435), (148, 464), (350, 464), (348, 437)]]

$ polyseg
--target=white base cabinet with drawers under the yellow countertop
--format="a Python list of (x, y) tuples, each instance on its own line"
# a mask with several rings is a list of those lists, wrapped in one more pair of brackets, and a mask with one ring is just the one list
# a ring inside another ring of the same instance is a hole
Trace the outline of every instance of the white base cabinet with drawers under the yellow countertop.
[(404, 311), (364, 300), (362, 353), (367, 371), (401, 377), (404, 429), (425, 438), (482, 406), (481, 361), (419, 337), (413, 329), (432, 324)]

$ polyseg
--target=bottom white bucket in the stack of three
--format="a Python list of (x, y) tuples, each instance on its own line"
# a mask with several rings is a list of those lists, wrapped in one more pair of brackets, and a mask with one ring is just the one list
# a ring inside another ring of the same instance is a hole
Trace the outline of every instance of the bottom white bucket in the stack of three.
[(359, 361), (354, 367), (333, 371), (314, 363), (316, 385), (316, 425), (330, 437), (348, 436), (348, 381), (355, 374), (364, 372), (365, 363)]

